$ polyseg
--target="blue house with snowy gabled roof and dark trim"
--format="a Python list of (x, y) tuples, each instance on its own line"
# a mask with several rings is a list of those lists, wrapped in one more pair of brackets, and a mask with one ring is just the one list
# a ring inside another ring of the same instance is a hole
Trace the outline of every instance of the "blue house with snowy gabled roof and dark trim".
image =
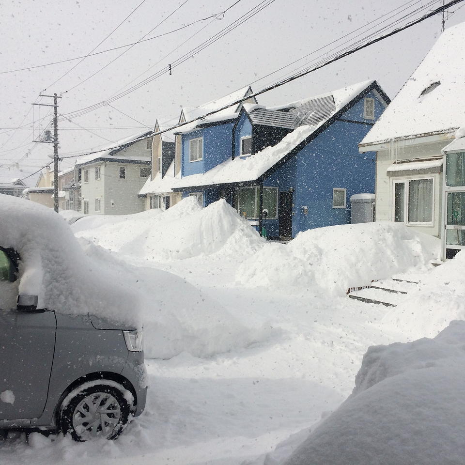
[(350, 223), (350, 196), (374, 192), (374, 153), (359, 154), (357, 144), (388, 103), (366, 81), (192, 124), (178, 133), (181, 173), (170, 188), (204, 206), (226, 199), (267, 237)]

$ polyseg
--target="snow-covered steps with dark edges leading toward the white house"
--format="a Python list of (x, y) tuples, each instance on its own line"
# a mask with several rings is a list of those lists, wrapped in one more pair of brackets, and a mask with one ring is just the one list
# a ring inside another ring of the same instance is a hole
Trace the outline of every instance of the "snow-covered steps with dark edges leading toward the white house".
[(395, 307), (400, 304), (409, 291), (418, 286), (418, 281), (408, 279), (382, 279), (373, 281), (370, 287), (349, 292), (351, 299), (370, 304)]

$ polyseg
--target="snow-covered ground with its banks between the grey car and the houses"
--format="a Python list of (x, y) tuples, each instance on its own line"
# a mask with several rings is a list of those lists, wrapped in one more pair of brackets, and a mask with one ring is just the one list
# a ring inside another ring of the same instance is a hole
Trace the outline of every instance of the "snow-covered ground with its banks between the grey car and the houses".
[[(452, 300), (463, 300), (463, 282), (444, 292), (460, 264), (433, 269), (439, 241), (399, 225), (337, 226), (269, 244), (225, 202), (202, 209), (186, 199), (167, 212), (85, 217), (71, 228), (93, 260), (133, 276), (150, 357), (146, 411), (117, 441), (4, 441), (0, 463), (276, 465), (351, 394), (369, 346), (434, 336), (462, 317)], [(400, 273), (431, 283), (390, 310), (345, 296)], [(418, 328), (431, 299), (436, 307), (449, 299), (447, 311)]]

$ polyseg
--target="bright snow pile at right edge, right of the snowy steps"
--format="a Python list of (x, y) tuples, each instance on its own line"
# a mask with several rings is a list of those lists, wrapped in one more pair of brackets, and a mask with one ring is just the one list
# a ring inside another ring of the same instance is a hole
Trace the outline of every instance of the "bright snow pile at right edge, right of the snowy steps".
[(465, 252), (435, 268), (383, 323), (398, 325), (412, 339), (434, 337), (450, 321), (465, 319)]

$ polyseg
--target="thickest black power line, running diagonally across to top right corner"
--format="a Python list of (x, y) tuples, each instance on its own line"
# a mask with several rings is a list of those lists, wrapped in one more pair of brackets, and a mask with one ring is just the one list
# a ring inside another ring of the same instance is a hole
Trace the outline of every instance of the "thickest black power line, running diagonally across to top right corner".
[[(224, 109), (228, 109), (228, 108), (233, 107), (233, 106), (237, 106), (240, 103), (242, 103), (245, 100), (248, 100), (248, 99), (250, 99), (252, 97), (256, 97), (256, 96), (261, 95), (263, 93), (269, 92), (269, 91), (271, 91), (273, 89), (277, 89), (278, 87), (281, 87), (281, 86), (283, 86), (283, 85), (285, 85), (285, 84), (287, 84), (287, 83), (289, 83), (291, 81), (294, 81), (295, 79), (302, 78), (302, 77), (304, 77), (304, 76), (306, 76), (306, 75), (308, 75), (308, 74), (310, 74), (310, 73), (312, 73), (314, 71), (317, 71), (318, 69), (321, 69), (321, 68), (323, 68), (325, 66), (328, 66), (329, 64), (331, 64), (333, 62), (339, 61), (342, 58), (345, 58), (345, 57), (347, 57), (349, 55), (352, 55), (353, 53), (355, 53), (355, 52), (357, 52), (359, 50), (362, 50), (363, 48), (370, 47), (371, 45), (373, 45), (373, 44), (375, 44), (377, 42), (380, 42), (380, 41), (386, 39), (387, 37), (391, 37), (391, 36), (393, 36), (395, 34), (398, 34), (399, 32), (405, 31), (406, 29), (409, 29), (409, 28), (419, 24), (420, 22), (422, 22), (422, 21), (424, 21), (424, 20), (426, 20), (428, 18), (430, 18), (430, 17), (432, 17), (434, 15), (437, 15), (438, 13), (441, 13), (444, 9), (447, 9), (450, 6), (455, 5), (457, 3), (460, 3), (462, 1), (464, 1), (464, 0), (452, 0), (449, 3), (447, 3), (447, 4), (445, 4), (445, 5), (441, 6), (441, 7), (436, 8), (432, 12), (430, 12), (430, 13), (428, 13), (426, 15), (423, 15), (420, 18), (418, 18), (418, 19), (416, 19), (416, 20), (414, 20), (414, 21), (412, 21), (412, 22), (410, 22), (410, 23), (408, 23), (408, 24), (406, 24), (406, 25), (404, 25), (404, 26), (402, 26), (400, 28), (397, 28), (397, 29), (395, 29), (393, 31), (390, 31), (387, 34), (384, 34), (384, 35), (382, 35), (380, 37), (377, 37), (375, 39), (372, 39), (372, 40), (366, 42), (365, 44), (359, 45), (359, 46), (354, 47), (354, 48), (352, 48), (352, 49), (350, 49), (348, 51), (345, 51), (345, 52), (339, 54), (337, 57), (331, 58), (330, 60), (327, 60), (326, 62), (324, 62), (324, 63), (322, 63), (322, 64), (320, 64), (318, 66), (315, 66), (315, 67), (313, 67), (313, 68), (311, 68), (311, 69), (309, 69), (307, 71), (301, 72), (299, 74), (295, 74), (294, 76), (291, 76), (289, 78), (285, 78), (285, 79), (283, 79), (283, 80), (281, 80), (279, 82), (276, 82), (275, 84), (272, 84), (270, 86), (267, 86), (267, 87), (263, 88), (262, 90), (260, 90), (258, 92), (251, 93), (250, 95), (248, 95), (246, 97), (237, 99), (237, 100), (235, 100), (234, 102), (232, 102), (232, 103), (230, 103), (228, 105), (224, 105), (223, 107), (220, 107), (218, 109), (209, 111), (209, 112), (205, 113), (204, 115), (199, 116), (197, 118), (193, 118), (193, 119), (191, 119), (189, 121), (186, 121), (185, 123), (175, 124), (174, 126), (171, 126), (168, 129), (163, 129), (163, 130), (157, 131), (157, 132), (151, 134), (150, 136), (141, 136), (140, 138), (136, 138), (134, 140), (134, 142), (137, 142), (139, 140), (145, 140), (145, 139), (148, 139), (149, 137), (153, 137), (153, 136), (156, 136), (158, 134), (163, 134), (165, 132), (177, 129), (178, 127), (186, 126), (187, 124), (191, 124), (191, 123), (194, 123), (196, 121), (203, 120), (204, 118), (206, 118), (208, 116), (211, 116), (211, 115), (214, 115), (214, 114), (218, 113), (219, 111), (222, 111)], [(106, 150), (113, 150), (113, 149), (116, 149), (116, 148), (118, 148), (118, 147), (109, 147)], [(81, 154), (81, 155), (78, 155), (78, 156), (93, 155), (93, 154), (98, 153), (98, 152), (101, 152), (101, 150), (84, 153), (84, 154)], [(76, 158), (76, 157), (77, 156), (69, 156), (69, 157), (64, 157), (64, 158)]]

